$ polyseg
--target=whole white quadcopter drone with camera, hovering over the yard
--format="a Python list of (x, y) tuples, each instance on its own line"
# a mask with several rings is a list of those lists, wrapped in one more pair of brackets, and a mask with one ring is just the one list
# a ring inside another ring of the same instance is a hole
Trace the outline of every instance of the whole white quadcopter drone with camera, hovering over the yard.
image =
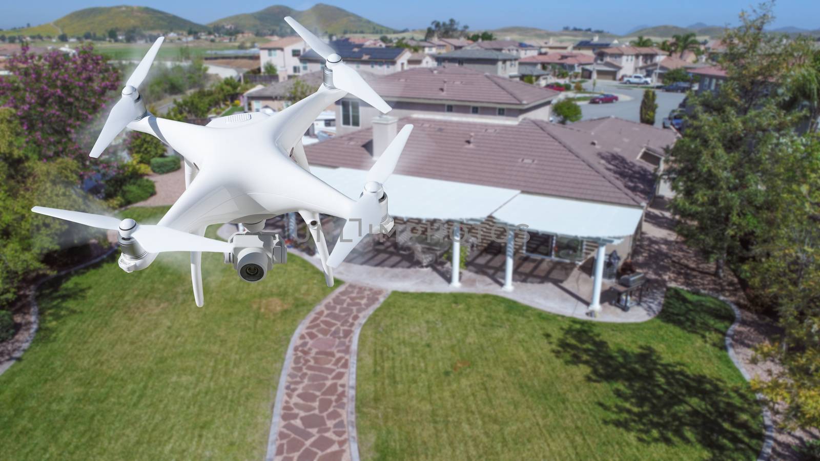
[[(117, 230), (122, 250), (119, 265), (125, 272), (148, 267), (157, 253), (191, 252), (191, 280), (198, 306), (203, 305), (203, 251), (224, 253), (225, 262), (233, 264), (242, 279), (261, 281), (274, 263), (287, 261), (287, 250), (279, 235), (264, 231), (265, 220), (298, 212), (316, 243), (326, 283), (332, 286), (332, 268), (339, 266), (364, 235), (388, 233), (393, 227), (382, 185), (393, 173), (412, 125), (404, 126), (367, 172), (358, 200), (349, 199), (313, 176), (302, 135), (322, 110), (348, 93), (381, 112), (389, 112), (390, 107), (330, 45), (292, 17), (285, 21), (326, 59), (324, 83), (316, 93), (271, 116), (241, 113), (198, 126), (148, 112), (137, 88), (148, 75), (162, 37), (153, 43), (125, 83), (122, 98), (112, 108), (90, 156), (99, 157), (116, 135), (130, 128), (156, 136), (185, 157), (185, 193), (156, 226), (56, 208), (34, 207), (31, 211)], [(320, 213), (347, 220), (330, 257)], [(240, 231), (229, 241), (203, 236), (207, 226), (225, 222), (240, 225)]]

